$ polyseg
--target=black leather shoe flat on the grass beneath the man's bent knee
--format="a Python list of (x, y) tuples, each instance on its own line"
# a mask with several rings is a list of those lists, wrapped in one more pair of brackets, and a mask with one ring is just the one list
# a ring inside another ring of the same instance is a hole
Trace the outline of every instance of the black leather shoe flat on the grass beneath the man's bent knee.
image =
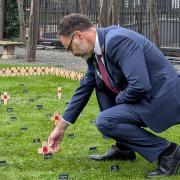
[(118, 149), (116, 146), (112, 146), (112, 148), (102, 155), (90, 155), (89, 159), (96, 161), (105, 161), (105, 160), (135, 160), (136, 155), (134, 151), (122, 151)]

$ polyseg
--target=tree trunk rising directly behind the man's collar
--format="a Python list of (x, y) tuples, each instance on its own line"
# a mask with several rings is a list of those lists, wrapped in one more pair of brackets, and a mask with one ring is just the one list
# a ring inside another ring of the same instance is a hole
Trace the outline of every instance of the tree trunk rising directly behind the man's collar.
[(100, 1), (100, 15), (98, 21), (101, 27), (112, 24), (112, 0)]

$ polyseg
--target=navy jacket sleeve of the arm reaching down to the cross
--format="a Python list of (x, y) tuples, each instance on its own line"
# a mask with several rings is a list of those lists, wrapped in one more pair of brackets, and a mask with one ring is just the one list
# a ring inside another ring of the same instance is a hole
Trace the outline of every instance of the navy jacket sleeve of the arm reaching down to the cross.
[(79, 114), (86, 106), (95, 86), (96, 81), (93, 67), (88, 65), (87, 72), (84, 78), (81, 80), (79, 88), (76, 89), (62, 116), (65, 121), (69, 123), (75, 123)]

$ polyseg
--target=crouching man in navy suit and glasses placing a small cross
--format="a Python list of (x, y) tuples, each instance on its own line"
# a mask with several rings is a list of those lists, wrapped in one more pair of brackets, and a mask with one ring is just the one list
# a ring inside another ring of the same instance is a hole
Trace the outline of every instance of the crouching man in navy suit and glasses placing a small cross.
[(74, 123), (93, 90), (100, 107), (97, 128), (116, 140), (93, 160), (134, 160), (135, 152), (157, 169), (147, 177), (174, 175), (180, 165), (180, 146), (147, 131), (159, 133), (180, 123), (180, 78), (160, 50), (144, 36), (110, 26), (96, 29), (84, 15), (65, 16), (59, 26), (60, 40), (74, 56), (88, 64), (80, 87), (62, 120), (48, 138), (59, 150), (67, 126)]

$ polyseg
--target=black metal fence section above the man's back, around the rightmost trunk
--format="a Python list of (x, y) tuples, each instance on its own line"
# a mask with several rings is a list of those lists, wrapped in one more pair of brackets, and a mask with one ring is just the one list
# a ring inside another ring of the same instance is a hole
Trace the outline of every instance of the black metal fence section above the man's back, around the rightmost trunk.
[[(158, 0), (158, 27), (161, 46), (180, 48), (180, 0)], [(145, 35), (150, 40), (148, 0), (119, 1), (119, 24)]]

